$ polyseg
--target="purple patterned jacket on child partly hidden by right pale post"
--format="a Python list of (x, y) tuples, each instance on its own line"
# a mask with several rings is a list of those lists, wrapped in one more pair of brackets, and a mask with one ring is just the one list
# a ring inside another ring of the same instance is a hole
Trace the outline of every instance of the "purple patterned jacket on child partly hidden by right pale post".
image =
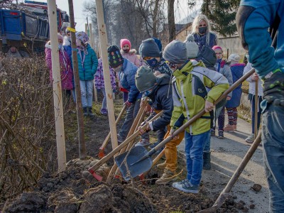
[[(104, 88), (104, 70), (102, 67), (102, 58), (99, 58), (98, 60), (98, 67), (97, 67), (97, 72), (94, 75), (94, 85), (97, 89), (102, 89)], [(112, 89), (116, 88), (116, 80), (115, 80), (115, 75), (114, 75), (114, 69), (109, 67), (109, 72), (110, 72), (110, 77), (111, 77), (111, 87)]]

